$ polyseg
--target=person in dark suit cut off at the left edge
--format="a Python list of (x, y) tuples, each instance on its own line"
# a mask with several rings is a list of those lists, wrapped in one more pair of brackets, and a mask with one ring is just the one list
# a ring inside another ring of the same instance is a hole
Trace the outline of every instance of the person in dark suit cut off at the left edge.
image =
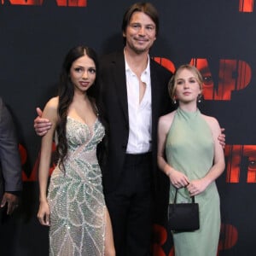
[[(11, 115), (0, 98), (0, 222), (19, 204), (22, 189), (20, 154)], [(3, 210), (6, 212), (3, 212)]]

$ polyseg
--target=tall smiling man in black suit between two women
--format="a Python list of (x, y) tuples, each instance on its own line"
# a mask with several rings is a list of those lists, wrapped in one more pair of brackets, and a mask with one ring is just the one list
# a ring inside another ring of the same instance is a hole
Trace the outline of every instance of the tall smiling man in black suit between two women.
[[(108, 158), (102, 172), (117, 256), (149, 254), (152, 189), (157, 182), (157, 124), (172, 110), (167, 84), (172, 73), (149, 58), (159, 31), (151, 3), (134, 3), (125, 12), (123, 51), (101, 61), (100, 102), (108, 123)], [(38, 115), (41, 115), (40, 109)], [(35, 119), (38, 135), (50, 127)]]

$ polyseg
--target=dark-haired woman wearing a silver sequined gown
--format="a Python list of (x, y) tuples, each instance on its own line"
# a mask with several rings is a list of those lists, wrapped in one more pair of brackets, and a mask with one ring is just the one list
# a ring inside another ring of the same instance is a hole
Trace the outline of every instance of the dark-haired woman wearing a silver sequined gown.
[[(47, 102), (43, 112), (52, 126), (42, 138), (38, 219), (49, 225), (52, 256), (115, 254), (96, 156), (97, 145), (105, 135), (91, 92), (97, 70), (93, 49), (71, 49), (62, 66), (58, 96)], [(58, 164), (47, 193), (55, 131)]]

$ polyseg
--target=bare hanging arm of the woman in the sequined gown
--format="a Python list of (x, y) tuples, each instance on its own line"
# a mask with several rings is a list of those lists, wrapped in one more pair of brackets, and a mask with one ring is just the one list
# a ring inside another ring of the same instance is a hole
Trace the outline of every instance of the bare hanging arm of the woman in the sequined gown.
[(38, 220), (43, 225), (49, 225), (49, 205), (47, 201), (47, 184), (49, 177), (49, 164), (52, 154), (52, 143), (55, 133), (55, 127), (57, 123), (57, 97), (52, 98), (47, 102), (43, 117), (49, 119), (52, 123), (51, 128), (47, 134), (42, 137), (41, 143), (41, 155), (38, 171), (38, 182), (39, 182), (39, 210), (38, 210)]

